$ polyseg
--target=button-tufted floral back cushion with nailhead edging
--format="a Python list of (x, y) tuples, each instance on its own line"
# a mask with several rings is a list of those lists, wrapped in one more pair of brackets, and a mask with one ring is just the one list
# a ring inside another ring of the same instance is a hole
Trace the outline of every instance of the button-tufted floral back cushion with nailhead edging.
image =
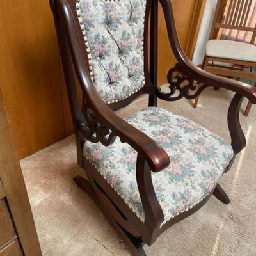
[(145, 84), (146, 0), (77, 0), (90, 74), (105, 102), (131, 96)]

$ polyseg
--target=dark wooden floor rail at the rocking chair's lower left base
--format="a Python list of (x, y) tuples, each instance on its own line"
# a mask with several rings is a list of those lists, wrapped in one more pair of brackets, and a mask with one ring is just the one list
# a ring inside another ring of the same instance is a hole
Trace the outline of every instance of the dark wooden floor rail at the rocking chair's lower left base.
[(108, 212), (108, 209), (106, 209), (104, 205), (102, 205), (99, 198), (93, 191), (93, 188), (90, 185), (90, 182), (81, 176), (74, 177), (74, 181), (76, 182), (77, 186), (79, 186), (79, 188), (81, 188), (83, 191), (85, 191), (90, 196), (92, 196), (93, 200), (95, 200), (95, 202), (99, 205), (101, 211), (104, 213), (108, 221), (111, 223), (113, 228), (115, 228), (116, 232), (120, 235), (120, 237), (122, 237), (122, 239), (125, 241), (125, 244), (127, 244), (127, 246), (129, 247), (132, 253), (132, 256), (147, 256), (143, 249), (143, 241), (129, 234), (129, 232), (124, 230), (124, 228), (122, 228), (115, 221), (115, 219), (112, 218), (112, 216)]

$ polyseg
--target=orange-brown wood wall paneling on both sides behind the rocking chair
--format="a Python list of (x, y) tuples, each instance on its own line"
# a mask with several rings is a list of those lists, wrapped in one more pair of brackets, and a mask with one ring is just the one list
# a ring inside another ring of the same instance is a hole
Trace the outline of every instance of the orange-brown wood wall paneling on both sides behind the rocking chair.
[[(204, 2), (172, 0), (180, 42), (188, 54), (193, 52), (197, 34), (191, 31), (198, 28)], [(0, 89), (21, 159), (72, 133), (48, 1), (1, 0), (0, 31)], [(163, 84), (175, 58), (161, 10), (159, 40), (159, 84)]]

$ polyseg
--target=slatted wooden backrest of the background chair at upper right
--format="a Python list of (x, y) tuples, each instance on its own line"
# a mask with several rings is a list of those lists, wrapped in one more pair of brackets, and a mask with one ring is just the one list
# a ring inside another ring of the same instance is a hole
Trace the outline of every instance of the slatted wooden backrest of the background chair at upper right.
[(255, 8), (255, 0), (218, 0), (210, 39), (217, 38), (220, 29), (234, 29), (250, 33), (250, 43), (254, 44), (256, 22), (250, 24), (250, 20)]

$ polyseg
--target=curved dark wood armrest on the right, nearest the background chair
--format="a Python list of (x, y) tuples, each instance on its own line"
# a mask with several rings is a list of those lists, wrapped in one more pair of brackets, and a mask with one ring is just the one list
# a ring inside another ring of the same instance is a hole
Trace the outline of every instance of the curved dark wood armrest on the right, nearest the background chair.
[(179, 38), (177, 36), (177, 31), (175, 28), (175, 20), (173, 16), (172, 3), (170, 0), (159, 0), (164, 12), (164, 17), (166, 20), (166, 26), (168, 31), (168, 38), (172, 51), (179, 61), (180, 67), (182, 67), (182, 72), (187, 76), (193, 77), (196, 81), (204, 84), (209, 84), (214, 87), (221, 87), (227, 90), (239, 93), (246, 97), (252, 104), (256, 104), (256, 88), (250, 84), (242, 83), (240, 81), (235, 81), (221, 76), (216, 76), (209, 72), (196, 67), (193, 64), (184, 51), (180, 47)]

